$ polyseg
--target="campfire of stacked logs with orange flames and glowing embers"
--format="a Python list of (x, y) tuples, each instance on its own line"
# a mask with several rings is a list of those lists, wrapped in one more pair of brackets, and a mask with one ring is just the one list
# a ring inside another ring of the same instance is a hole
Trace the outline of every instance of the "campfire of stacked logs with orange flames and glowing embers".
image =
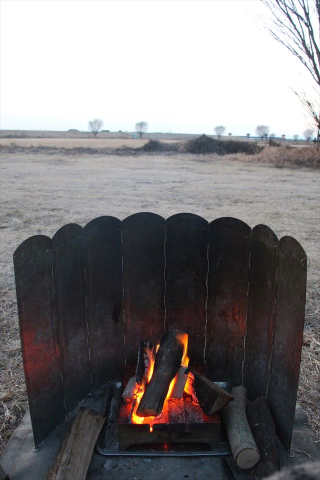
[(194, 440), (194, 429), (203, 430), (200, 439), (209, 446), (218, 441), (216, 412), (233, 397), (188, 367), (187, 346), (187, 333), (175, 330), (167, 331), (157, 345), (140, 341), (135, 372), (131, 375), (132, 367), (126, 367), (123, 377), (118, 424), (121, 449), (132, 439), (138, 443), (189, 442)]

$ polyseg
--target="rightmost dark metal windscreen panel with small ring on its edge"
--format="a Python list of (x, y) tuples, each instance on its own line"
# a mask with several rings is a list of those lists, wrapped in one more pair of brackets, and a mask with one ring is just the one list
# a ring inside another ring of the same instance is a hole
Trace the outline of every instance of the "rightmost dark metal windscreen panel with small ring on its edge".
[(306, 254), (290, 236), (279, 249), (279, 273), (268, 402), (277, 434), (289, 449), (303, 339)]

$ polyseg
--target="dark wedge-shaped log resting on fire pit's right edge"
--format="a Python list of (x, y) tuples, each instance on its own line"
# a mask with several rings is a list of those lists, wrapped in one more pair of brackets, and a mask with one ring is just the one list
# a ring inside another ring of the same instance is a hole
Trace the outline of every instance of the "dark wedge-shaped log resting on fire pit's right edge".
[(199, 405), (208, 416), (221, 410), (233, 396), (230, 395), (224, 388), (220, 388), (213, 381), (196, 371), (187, 368), (186, 372), (192, 371), (194, 375), (194, 389), (198, 399)]

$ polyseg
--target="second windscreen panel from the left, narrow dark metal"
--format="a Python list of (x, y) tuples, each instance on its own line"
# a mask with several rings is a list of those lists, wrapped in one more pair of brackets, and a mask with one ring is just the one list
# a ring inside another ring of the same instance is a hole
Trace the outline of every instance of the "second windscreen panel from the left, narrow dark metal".
[(62, 226), (52, 238), (52, 249), (63, 392), (70, 411), (91, 386), (82, 228)]

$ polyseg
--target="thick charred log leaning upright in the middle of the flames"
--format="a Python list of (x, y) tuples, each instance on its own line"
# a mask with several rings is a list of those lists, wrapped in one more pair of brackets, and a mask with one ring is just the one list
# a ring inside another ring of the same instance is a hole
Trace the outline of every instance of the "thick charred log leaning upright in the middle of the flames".
[(138, 416), (156, 416), (161, 412), (170, 382), (181, 364), (184, 350), (179, 338), (181, 334), (174, 330), (162, 336), (155, 355), (153, 374), (136, 410)]

